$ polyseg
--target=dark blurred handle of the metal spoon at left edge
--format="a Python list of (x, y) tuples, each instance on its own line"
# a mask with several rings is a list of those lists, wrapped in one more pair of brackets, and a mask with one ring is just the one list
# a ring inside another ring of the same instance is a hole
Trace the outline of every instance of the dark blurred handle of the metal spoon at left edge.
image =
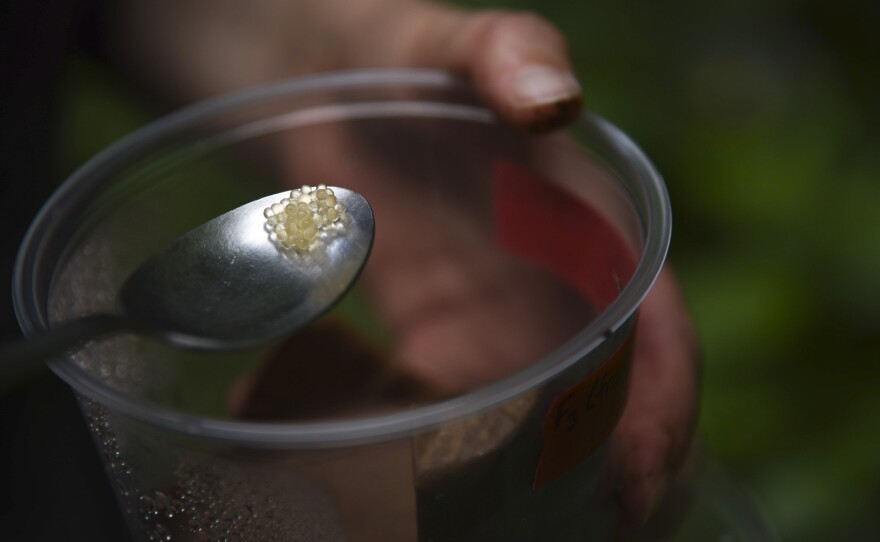
[(123, 331), (127, 319), (112, 314), (95, 314), (54, 327), (39, 335), (0, 346), (0, 393), (5, 393), (35, 376), (53, 358), (86, 341)]

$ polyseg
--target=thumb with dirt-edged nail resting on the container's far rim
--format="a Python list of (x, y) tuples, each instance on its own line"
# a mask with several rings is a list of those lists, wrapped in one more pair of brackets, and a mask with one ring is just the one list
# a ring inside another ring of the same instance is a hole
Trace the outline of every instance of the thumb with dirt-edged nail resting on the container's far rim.
[(465, 74), (508, 122), (546, 130), (572, 121), (580, 110), (581, 87), (566, 40), (541, 17), (423, 4), (406, 21), (395, 44), (407, 51), (406, 64)]

